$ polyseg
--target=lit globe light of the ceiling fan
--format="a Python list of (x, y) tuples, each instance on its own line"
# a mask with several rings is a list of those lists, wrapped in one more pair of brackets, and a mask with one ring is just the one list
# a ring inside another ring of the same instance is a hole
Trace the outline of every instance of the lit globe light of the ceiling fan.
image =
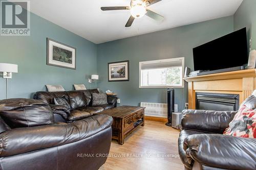
[(134, 1), (131, 5), (131, 15), (135, 18), (141, 18), (146, 13), (146, 5), (143, 1)]

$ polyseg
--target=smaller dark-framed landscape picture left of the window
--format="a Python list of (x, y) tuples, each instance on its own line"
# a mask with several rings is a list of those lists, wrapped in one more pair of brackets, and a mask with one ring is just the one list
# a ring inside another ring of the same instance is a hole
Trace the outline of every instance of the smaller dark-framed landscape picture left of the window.
[(109, 82), (129, 81), (129, 61), (109, 63)]

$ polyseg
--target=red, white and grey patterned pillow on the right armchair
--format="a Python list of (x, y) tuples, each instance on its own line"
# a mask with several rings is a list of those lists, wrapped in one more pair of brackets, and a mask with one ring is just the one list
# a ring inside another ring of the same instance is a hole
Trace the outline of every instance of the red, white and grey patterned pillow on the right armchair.
[(239, 111), (234, 115), (233, 120), (229, 123), (229, 127), (223, 134), (256, 138), (256, 109), (250, 109), (245, 105), (239, 108)]

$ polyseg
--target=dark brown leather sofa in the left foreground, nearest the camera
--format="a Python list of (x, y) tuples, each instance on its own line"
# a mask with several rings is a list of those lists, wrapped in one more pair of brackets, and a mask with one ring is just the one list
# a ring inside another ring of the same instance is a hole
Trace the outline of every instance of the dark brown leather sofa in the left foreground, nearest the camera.
[[(45, 95), (44, 99), (52, 98)], [(91, 114), (68, 123), (58, 113), (62, 122), (41, 100), (0, 101), (0, 169), (82, 170), (104, 164), (111, 146), (113, 118)]]

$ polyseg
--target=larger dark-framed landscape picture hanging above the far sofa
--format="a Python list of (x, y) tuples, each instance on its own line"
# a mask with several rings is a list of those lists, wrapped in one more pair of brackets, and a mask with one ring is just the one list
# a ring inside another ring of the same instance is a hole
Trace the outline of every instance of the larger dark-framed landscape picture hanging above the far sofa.
[(76, 48), (47, 38), (47, 65), (76, 69)]

